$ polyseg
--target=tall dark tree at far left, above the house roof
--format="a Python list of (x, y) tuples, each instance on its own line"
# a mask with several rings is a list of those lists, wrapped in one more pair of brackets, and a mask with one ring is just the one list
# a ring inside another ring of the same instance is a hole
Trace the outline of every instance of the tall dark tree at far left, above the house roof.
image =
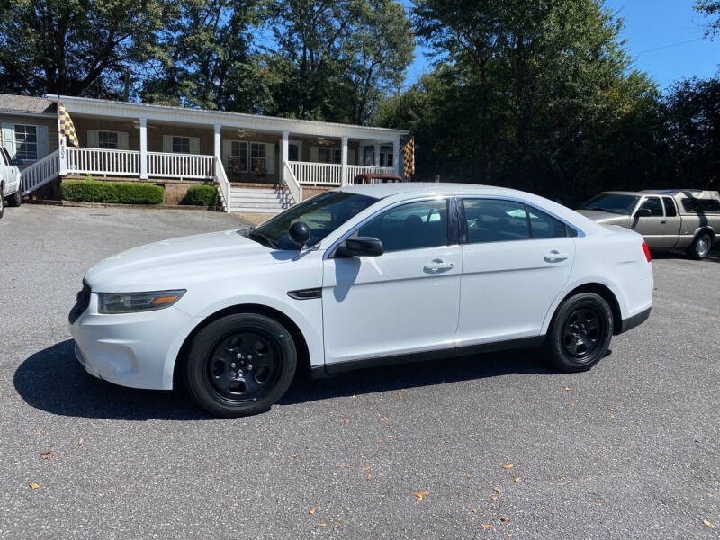
[(120, 97), (153, 50), (162, 0), (9, 0), (0, 7), (0, 91)]

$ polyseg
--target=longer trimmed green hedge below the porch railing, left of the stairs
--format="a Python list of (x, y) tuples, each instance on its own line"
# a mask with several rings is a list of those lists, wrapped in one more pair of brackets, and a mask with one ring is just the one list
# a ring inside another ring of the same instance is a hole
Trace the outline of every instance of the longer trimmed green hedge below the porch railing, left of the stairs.
[(165, 190), (159, 185), (134, 182), (66, 180), (60, 184), (63, 201), (121, 204), (162, 204)]

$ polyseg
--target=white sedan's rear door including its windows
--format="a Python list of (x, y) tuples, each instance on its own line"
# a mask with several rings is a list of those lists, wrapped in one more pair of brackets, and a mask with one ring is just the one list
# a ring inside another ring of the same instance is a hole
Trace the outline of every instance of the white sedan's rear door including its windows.
[(541, 334), (570, 278), (574, 231), (522, 202), (465, 198), (458, 347)]

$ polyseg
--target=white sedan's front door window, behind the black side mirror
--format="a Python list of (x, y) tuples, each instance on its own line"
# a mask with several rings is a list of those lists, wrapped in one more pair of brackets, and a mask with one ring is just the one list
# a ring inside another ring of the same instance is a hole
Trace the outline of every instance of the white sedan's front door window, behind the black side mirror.
[(378, 238), (384, 252), (446, 246), (447, 202), (441, 199), (397, 206), (357, 229), (356, 235)]

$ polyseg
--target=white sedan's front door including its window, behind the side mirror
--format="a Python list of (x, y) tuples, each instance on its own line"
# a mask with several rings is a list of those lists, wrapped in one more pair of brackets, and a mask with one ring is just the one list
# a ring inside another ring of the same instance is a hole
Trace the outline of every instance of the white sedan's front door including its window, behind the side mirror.
[(325, 363), (452, 349), (462, 249), (448, 246), (446, 199), (403, 203), (354, 235), (379, 238), (380, 257), (324, 261)]

